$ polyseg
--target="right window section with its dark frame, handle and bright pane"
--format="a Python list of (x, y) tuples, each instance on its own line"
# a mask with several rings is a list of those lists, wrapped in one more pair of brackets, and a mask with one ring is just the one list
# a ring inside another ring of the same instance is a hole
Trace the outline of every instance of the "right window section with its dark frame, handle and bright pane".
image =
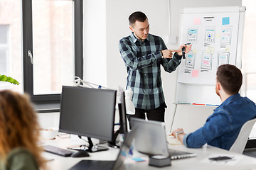
[(60, 107), (61, 86), (82, 77), (82, 0), (22, 4), (23, 88), (38, 110), (42, 106), (54, 111)]

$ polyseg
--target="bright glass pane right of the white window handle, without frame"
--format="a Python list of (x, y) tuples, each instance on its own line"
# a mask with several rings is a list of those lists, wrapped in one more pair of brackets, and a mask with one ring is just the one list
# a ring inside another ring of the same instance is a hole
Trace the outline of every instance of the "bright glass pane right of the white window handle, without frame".
[(33, 94), (72, 86), (73, 1), (33, 1)]

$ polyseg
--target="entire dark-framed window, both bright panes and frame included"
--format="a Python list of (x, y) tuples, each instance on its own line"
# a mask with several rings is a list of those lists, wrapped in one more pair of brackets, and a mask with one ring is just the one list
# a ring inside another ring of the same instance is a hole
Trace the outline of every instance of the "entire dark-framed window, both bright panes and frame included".
[(58, 111), (62, 86), (82, 69), (82, 0), (0, 0), (0, 74), (21, 82), (0, 89)]

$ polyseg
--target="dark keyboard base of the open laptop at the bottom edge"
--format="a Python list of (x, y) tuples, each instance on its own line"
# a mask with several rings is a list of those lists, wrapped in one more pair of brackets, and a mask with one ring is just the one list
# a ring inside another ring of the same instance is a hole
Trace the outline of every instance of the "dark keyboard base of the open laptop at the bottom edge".
[(82, 160), (71, 167), (69, 170), (80, 170), (80, 169), (102, 169), (111, 170), (114, 166), (114, 161), (97, 161), (97, 160)]

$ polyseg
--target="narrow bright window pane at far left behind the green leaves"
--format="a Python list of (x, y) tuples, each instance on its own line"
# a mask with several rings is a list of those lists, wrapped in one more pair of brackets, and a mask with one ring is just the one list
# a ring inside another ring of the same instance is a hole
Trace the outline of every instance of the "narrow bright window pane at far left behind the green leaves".
[[(21, 1), (0, 0), (0, 74), (22, 84)], [(22, 86), (0, 81), (0, 89), (23, 92)]]

